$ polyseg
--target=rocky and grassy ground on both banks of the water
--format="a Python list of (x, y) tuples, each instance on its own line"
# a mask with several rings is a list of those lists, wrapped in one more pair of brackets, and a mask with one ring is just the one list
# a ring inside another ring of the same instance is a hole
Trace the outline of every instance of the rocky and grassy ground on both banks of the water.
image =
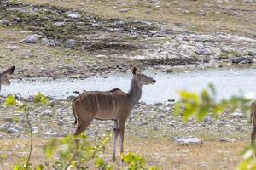
[[(131, 65), (161, 71), (255, 65), (253, 0), (1, 2), (0, 68), (15, 65), (14, 78), (86, 78)], [(10, 169), (26, 155), (28, 129), (25, 117), (0, 101), (0, 154), (7, 154), (3, 167)], [(31, 105), (32, 159), (38, 162), (49, 139), (74, 132), (74, 118), (69, 101)], [(184, 123), (173, 116), (173, 105), (137, 105), (126, 125), (125, 151), (142, 153), (164, 169), (234, 169), (249, 144), (247, 117), (225, 113)], [(95, 121), (87, 133), (94, 140), (112, 128), (112, 121)], [(188, 141), (196, 144), (180, 145)], [(111, 150), (109, 144), (108, 155)]]

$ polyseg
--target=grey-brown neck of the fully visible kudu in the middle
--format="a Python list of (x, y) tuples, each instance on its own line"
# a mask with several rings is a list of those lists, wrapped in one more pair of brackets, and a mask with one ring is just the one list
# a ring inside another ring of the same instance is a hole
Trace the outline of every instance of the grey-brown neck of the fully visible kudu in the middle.
[(131, 88), (128, 92), (128, 98), (131, 101), (131, 107), (137, 104), (137, 102), (141, 99), (142, 97), (142, 85), (139, 84), (136, 80), (136, 78), (131, 79)]

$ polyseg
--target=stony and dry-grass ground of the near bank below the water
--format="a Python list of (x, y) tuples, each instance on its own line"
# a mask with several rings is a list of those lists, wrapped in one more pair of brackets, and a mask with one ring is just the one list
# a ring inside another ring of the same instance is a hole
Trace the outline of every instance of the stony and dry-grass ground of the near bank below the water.
[[(33, 103), (30, 105), (32, 105), (30, 111), (32, 132), (36, 141), (32, 160), (37, 163), (38, 159), (44, 159), (40, 153), (42, 153), (42, 146), (47, 144), (49, 139), (63, 137), (75, 131), (74, 117), (71, 103), (67, 101), (52, 100), (46, 106)], [(225, 113), (218, 118), (207, 116), (203, 122), (192, 119), (185, 123), (180, 117), (173, 116), (172, 107), (172, 102), (137, 105), (125, 127), (125, 152), (142, 153), (148, 159), (149, 165), (159, 165), (164, 169), (171, 167), (190, 169), (189, 162), (186, 161), (190, 156), (195, 163), (192, 169), (206, 167), (233, 169), (241, 161), (239, 154), (249, 144), (252, 130), (252, 125), (248, 123), (246, 115), (240, 112)], [(16, 108), (6, 109), (2, 105), (0, 112), (2, 117), (0, 119), (0, 143), (3, 143), (1, 153), (7, 154), (9, 158), (4, 161), (3, 165), (12, 167), (14, 160), (15, 162), (20, 160), (20, 154), (26, 155), (27, 153), (28, 127), (25, 116), (20, 114)], [(92, 122), (86, 133), (92, 141), (102, 139), (113, 133), (113, 121), (96, 120)], [(9, 140), (12, 142), (6, 143)], [(218, 150), (214, 147), (215, 145), (218, 145)], [(16, 151), (12, 150), (12, 147), (15, 147)], [(109, 143), (106, 153), (106, 159), (109, 162), (111, 162), (112, 148), (112, 143)], [(183, 156), (189, 150), (191, 151), (189, 156)], [(200, 159), (195, 159), (195, 155)], [(176, 156), (177, 159), (174, 159)], [(227, 160), (219, 161), (223, 159), (222, 156), (229, 157), (230, 165), (227, 164)], [(183, 161), (185, 165), (180, 164)], [(119, 169), (124, 165), (118, 161), (113, 166)]]

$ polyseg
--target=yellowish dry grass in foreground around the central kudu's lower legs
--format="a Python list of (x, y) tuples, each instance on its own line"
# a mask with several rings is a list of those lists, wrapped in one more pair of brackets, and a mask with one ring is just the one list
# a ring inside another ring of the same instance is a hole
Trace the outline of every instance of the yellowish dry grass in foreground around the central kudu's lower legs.
[[(35, 139), (32, 163), (42, 163), (42, 147), (48, 139)], [(240, 153), (248, 141), (219, 143), (205, 141), (201, 146), (179, 146), (170, 139), (139, 139), (126, 135), (125, 152), (133, 151), (142, 154), (148, 165), (160, 166), (163, 169), (234, 169), (241, 161)], [(0, 150), (8, 153), (3, 161), (3, 169), (9, 170), (15, 162), (24, 161), (28, 150), (27, 139), (1, 139)], [(111, 161), (112, 142), (107, 145), (106, 158)], [(119, 160), (113, 163), (116, 169), (125, 165)]]

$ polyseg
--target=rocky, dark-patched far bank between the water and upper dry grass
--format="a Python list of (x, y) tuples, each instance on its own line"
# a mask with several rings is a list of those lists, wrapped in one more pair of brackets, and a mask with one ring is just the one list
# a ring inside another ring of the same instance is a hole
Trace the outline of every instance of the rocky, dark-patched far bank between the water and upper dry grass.
[(15, 77), (92, 77), (131, 65), (164, 71), (178, 65), (246, 65), (256, 56), (253, 35), (105, 19), (46, 4), (5, 2), (0, 9), (0, 65), (16, 65)]

